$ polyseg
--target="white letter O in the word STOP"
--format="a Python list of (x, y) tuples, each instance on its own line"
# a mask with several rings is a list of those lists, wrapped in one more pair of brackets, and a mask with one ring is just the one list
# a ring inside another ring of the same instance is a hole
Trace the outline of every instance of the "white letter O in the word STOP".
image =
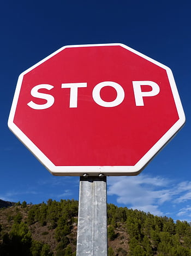
[[(117, 96), (116, 99), (113, 101), (104, 101), (101, 97), (100, 97), (100, 90), (105, 87), (105, 86), (111, 86), (113, 87), (116, 92), (117, 92)], [(124, 90), (123, 88), (120, 86), (120, 84), (115, 83), (115, 82), (111, 82), (111, 81), (105, 81), (105, 82), (101, 82), (98, 83), (92, 91), (92, 97), (94, 99), (94, 101), (103, 107), (115, 107), (118, 106), (122, 103), (122, 101), (124, 100)]]

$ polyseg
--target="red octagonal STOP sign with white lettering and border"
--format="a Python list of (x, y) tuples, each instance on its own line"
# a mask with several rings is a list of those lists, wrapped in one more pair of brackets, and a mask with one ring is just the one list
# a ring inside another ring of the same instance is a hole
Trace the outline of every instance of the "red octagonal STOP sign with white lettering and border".
[(54, 175), (136, 175), (184, 122), (168, 67), (124, 44), (93, 44), (21, 73), (8, 126)]

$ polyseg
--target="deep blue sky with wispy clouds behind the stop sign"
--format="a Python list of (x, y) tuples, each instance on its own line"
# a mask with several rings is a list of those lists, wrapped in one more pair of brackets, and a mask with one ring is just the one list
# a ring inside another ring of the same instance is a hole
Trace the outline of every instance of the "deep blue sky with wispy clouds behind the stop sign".
[(108, 178), (108, 202), (191, 220), (190, 8), (189, 1), (1, 3), (1, 199), (79, 197), (79, 177), (53, 177), (7, 127), (20, 73), (64, 45), (123, 43), (170, 67), (187, 121), (140, 175)]

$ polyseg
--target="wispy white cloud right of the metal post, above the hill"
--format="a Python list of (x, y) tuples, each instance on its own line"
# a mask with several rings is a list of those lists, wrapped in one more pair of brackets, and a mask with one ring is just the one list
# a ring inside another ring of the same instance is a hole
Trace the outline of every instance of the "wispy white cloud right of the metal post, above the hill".
[[(129, 208), (164, 215), (164, 203), (178, 204), (191, 200), (191, 182), (177, 183), (162, 177), (150, 177), (140, 174), (136, 177), (110, 177), (108, 179), (108, 195), (116, 195), (117, 202)], [(182, 208), (182, 206), (181, 206)], [(191, 215), (191, 208), (177, 211), (177, 216)]]

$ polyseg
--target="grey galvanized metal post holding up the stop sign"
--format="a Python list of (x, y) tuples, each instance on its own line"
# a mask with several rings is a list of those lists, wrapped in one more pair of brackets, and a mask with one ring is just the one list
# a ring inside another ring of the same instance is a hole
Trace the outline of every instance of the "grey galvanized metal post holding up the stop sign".
[(108, 255), (106, 177), (80, 177), (76, 256)]

